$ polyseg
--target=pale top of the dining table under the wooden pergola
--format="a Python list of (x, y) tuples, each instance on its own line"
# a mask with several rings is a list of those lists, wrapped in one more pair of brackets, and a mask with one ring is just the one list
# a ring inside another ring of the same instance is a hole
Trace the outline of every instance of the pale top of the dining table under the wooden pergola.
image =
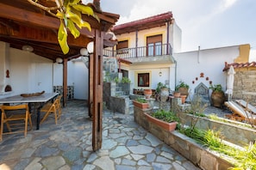
[(58, 95), (58, 93), (44, 93), (39, 96), (22, 97), (21, 95), (14, 95), (0, 99), (0, 103), (35, 103), (35, 102), (47, 102)]

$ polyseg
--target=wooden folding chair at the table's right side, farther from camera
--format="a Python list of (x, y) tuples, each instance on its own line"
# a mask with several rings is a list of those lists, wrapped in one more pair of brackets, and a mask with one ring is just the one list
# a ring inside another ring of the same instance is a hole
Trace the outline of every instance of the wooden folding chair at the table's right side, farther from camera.
[(42, 124), (47, 119), (47, 117), (49, 116), (50, 113), (54, 114), (55, 124), (57, 124), (57, 121), (61, 115), (61, 97), (62, 97), (62, 95), (59, 95), (53, 101), (53, 103), (49, 102), (41, 108), (41, 112), (46, 112), (46, 113), (45, 113), (44, 117), (41, 119), (40, 124)]

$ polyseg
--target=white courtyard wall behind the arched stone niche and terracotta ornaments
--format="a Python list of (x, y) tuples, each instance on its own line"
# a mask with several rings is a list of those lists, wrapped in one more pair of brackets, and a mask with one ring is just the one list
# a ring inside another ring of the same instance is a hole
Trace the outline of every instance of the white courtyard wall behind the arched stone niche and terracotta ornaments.
[[(177, 61), (177, 83), (182, 80), (189, 84), (191, 97), (200, 82), (203, 82), (207, 87), (209, 87), (209, 81), (213, 85), (222, 84), (222, 88), (225, 91), (226, 74), (222, 70), (225, 62), (233, 63), (234, 58), (239, 56), (239, 47), (228, 46), (173, 54)], [(201, 73), (203, 73), (203, 77), (200, 77)], [(209, 81), (206, 80), (206, 77), (209, 77)], [(195, 83), (193, 84), (192, 81), (195, 81)]]

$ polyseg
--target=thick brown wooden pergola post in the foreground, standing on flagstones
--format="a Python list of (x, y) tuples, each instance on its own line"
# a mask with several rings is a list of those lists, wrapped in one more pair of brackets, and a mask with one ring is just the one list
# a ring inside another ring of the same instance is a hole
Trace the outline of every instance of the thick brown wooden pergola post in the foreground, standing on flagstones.
[(103, 131), (103, 32), (95, 30), (93, 52), (92, 149), (102, 148)]

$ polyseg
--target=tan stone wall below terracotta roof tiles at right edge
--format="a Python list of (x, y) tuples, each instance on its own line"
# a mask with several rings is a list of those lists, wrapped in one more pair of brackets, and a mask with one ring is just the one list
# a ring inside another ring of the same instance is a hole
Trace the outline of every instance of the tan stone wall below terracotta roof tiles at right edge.
[(256, 68), (234, 69), (233, 99), (242, 99), (256, 106)]

